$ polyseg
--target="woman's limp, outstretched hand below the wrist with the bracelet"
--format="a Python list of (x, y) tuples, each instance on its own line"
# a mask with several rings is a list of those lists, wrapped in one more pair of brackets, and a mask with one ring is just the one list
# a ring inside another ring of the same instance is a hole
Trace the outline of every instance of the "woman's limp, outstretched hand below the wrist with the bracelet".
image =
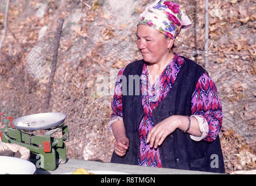
[(179, 127), (179, 123), (179, 116), (170, 116), (155, 125), (148, 132), (147, 143), (150, 143), (150, 148), (161, 145), (165, 138)]

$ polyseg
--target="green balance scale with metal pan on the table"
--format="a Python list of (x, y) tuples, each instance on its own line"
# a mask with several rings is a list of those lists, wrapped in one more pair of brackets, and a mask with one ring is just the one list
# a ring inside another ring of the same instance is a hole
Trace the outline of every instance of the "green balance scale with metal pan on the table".
[[(41, 169), (55, 170), (56, 164), (66, 162), (64, 141), (69, 140), (69, 130), (63, 123), (65, 119), (64, 113), (38, 113), (19, 117), (11, 121), (11, 127), (0, 128), (0, 138), (3, 142), (26, 147), (37, 157), (39, 155)], [(48, 131), (44, 135), (31, 133), (37, 130)], [(62, 131), (61, 138), (52, 137), (59, 131)]]

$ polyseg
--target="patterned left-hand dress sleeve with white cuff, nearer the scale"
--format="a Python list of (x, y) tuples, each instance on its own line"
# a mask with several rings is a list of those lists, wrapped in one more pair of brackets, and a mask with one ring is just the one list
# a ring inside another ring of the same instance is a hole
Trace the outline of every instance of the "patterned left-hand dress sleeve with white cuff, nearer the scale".
[(117, 120), (123, 120), (123, 107), (122, 107), (122, 75), (125, 68), (121, 69), (116, 77), (115, 92), (111, 102), (112, 114), (111, 120), (108, 122), (108, 128), (112, 131), (112, 124)]

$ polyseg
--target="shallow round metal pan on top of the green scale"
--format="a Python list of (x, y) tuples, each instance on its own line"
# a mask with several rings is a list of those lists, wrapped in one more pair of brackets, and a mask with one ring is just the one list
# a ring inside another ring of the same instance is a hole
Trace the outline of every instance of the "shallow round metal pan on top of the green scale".
[(48, 112), (22, 116), (13, 120), (12, 124), (19, 130), (35, 131), (59, 126), (65, 119), (64, 113)]

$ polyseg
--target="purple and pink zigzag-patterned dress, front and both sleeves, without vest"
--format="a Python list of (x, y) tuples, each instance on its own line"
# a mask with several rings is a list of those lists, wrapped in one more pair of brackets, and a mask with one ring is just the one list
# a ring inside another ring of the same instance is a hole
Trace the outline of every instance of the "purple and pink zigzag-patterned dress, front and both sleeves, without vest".
[[(173, 83), (180, 67), (184, 62), (183, 58), (175, 53), (173, 60), (163, 70), (161, 76), (150, 88), (149, 74), (147, 66), (143, 66), (141, 75), (141, 93), (142, 104), (144, 109), (144, 117), (140, 122), (138, 133), (140, 137), (140, 155), (138, 165), (161, 167), (161, 159), (158, 149), (150, 148), (146, 143), (148, 131), (153, 127), (152, 110), (157, 108), (159, 103), (165, 98)], [(115, 85), (115, 94), (111, 103), (113, 113), (111, 118), (115, 116), (123, 116), (122, 109), (122, 79), (120, 77), (125, 69), (121, 69), (118, 73), (118, 79)], [(218, 98), (214, 81), (208, 77), (207, 73), (202, 74), (198, 79), (191, 98), (192, 115), (201, 115), (208, 122), (209, 132), (205, 141), (213, 141), (218, 136), (222, 126), (222, 107)]]

